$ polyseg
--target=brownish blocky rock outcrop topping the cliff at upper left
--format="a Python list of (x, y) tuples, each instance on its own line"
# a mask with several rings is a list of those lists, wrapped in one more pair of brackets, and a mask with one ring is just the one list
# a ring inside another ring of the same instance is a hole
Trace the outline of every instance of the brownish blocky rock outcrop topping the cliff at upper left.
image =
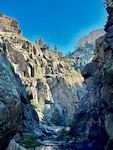
[(18, 22), (10, 17), (0, 14), (0, 32), (13, 32), (21, 34), (21, 30), (18, 29)]

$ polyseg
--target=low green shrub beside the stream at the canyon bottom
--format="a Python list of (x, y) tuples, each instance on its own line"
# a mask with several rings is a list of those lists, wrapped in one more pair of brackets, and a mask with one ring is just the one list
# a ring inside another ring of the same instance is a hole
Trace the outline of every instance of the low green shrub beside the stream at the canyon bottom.
[(20, 145), (25, 148), (35, 148), (41, 144), (36, 140), (34, 135), (28, 135), (21, 138)]

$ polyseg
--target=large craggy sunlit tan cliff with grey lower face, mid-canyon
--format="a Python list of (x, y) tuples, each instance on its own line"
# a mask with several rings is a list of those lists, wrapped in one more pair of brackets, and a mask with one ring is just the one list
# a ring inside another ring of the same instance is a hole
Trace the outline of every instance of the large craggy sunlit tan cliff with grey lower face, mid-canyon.
[[(0, 49), (25, 85), (41, 121), (57, 124), (58, 119), (66, 118), (65, 123), (73, 118), (86, 91), (82, 92), (83, 78), (74, 70), (70, 59), (57, 52), (42, 51), (38, 45), (13, 31), (0, 32)], [(24, 113), (30, 116), (26, 110)]]

